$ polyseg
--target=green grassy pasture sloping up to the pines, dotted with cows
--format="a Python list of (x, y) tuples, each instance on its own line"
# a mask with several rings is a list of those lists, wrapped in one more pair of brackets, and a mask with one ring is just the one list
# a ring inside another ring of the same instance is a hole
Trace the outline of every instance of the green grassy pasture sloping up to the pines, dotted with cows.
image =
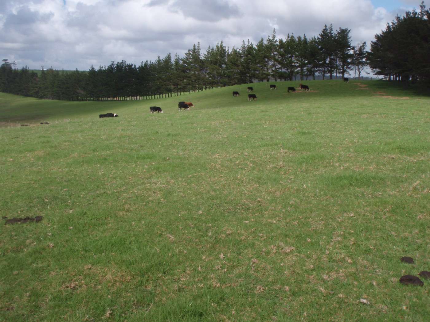
[(430, 98), (304, 83), (0, 94), (0, 321), (428, 321)]

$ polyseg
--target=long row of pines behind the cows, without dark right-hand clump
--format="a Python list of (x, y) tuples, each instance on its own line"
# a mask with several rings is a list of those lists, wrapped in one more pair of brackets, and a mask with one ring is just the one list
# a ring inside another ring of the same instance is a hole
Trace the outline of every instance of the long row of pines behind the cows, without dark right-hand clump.
[(226, 85), (299, 78), (316, 75), (333, 78), (351, 70), (360, 76), (365, 65), (365, 42), (351, 45), (350, 29), (325, 25), (319, 36), (288, 34), (276, 37), (276, 30), (253, 44), (243, 41), (229, 49), (224, 43), (202, 51), (194, 44), (184, 57), (169, 53), (140, 65), (114, 62), (86, 72), (16, 69), (3, 60), (0, 67), (0, 91), (56, 100), (142, 99), (172, 96)]

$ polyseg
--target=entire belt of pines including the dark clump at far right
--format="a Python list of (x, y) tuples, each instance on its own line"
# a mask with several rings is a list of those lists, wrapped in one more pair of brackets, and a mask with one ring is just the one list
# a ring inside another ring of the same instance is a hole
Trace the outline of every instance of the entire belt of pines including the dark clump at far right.
[(420, 7), (420, 12), (406, 12), (387, 24), (386, 30), (375, 35), (370, 52), (365, 42), (351, 44), (350, 29), (334, 30), (332, 24), (311, 38), (288, 34), (278, 39), (273, 30), (256, 44), (248, 40), (229, 49), (221, 41), (202, 51), (198, 43), (184, 57), (172, 58), (169, 53), (138, 66), (111, 61), (86, 72), (49, 68), (39, 75), (3, 60), (0, 91), (55, 100), (147, 99), (271, 79), (343, 78), (352, 71), (360, 77), (368, 65), (389, 79), (428, 79), (429, 12), (424, 3)]

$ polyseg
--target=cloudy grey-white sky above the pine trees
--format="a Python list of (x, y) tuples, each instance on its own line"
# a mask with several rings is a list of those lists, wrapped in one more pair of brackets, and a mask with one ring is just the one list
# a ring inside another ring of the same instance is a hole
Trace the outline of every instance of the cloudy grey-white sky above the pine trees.
[[(426, 1), (424, 1), (426, 2)], [(352, 43), (370, 41), (388, 21), (421, 0), (1, 0), (0, 60), (17, 67), (88, 70), (126, 60), (181, 57), (223, 40), (257, 43), (318, 36), (324, 24), (351, 30)], [(369, 47), (368, 47), (369, 49)]]

